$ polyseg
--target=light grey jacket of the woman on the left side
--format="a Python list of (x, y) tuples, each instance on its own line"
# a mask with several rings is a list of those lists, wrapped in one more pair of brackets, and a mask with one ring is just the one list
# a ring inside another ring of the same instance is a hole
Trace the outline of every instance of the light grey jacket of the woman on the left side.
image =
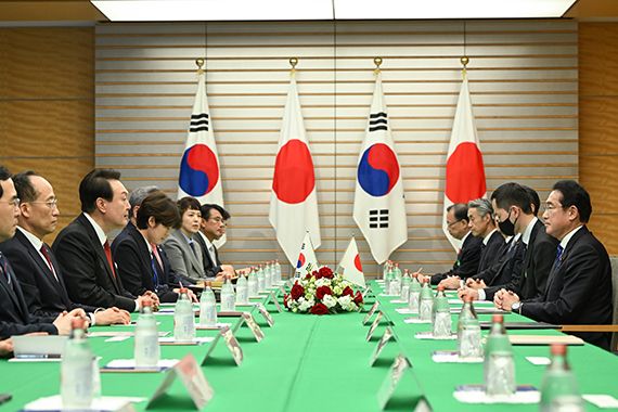
[(195, 247), (195, 253), (193, 253), (180, 229), (171, 232), (163, 243), (163, 248), (167, 254), (171, 269), (178, 280), (183, 283), (194, 284), (206, 278), (202, 261), (202, 248), (197, 242), (194, 242), (193, 246)]

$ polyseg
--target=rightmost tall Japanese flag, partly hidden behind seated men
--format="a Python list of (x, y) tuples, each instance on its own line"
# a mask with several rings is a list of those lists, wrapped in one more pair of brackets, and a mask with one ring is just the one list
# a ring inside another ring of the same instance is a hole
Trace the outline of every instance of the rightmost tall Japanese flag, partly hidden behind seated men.
[(467, 77), (464, 70), (464, 79), (455, 108), (451, 142), (447, 155), (447, 182), (442, 218), (442, 230), (455, 250), (461, 247), (461, 241), (449, 234), (447, 208), (455, 203), (468, 203), (482, 197), (486, 193), (482, 154), (478, 144), (478, 134), (467, 88)]

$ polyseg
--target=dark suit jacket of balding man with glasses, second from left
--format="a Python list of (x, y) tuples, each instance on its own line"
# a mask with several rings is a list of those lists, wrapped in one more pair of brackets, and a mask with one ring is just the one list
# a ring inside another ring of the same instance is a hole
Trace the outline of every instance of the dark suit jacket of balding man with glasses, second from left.
[(64, 310), (76, 308), (94, 312), (95, 307), (70, 301), (60, 265), (51, 248), (47, 244), (43, 246), (48, 249), (57, 280), (39, 252), (20, 230), (13, 239), (0, 244), (0, 252), (9, 259), (20, 281), (28, 311), (41, 317), (56, 317)]

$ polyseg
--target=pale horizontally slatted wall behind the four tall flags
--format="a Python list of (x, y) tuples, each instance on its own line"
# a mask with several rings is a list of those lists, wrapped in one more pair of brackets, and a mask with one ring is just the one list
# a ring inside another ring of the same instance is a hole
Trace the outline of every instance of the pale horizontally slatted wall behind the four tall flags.
[[(546, 196), (578, 176), (577, 24), (467, 22), (465, 52), (488, 191), (517, 180)], [(384, 59), (385, 101), (402, 166), (409, 241), (394, 254), (426, 271), (452, 265), (441, 230), (445, 163), (461, 85), (464, 22), (101, 24), (96, 26), (98, 166), (119, 168), (129, 188), (175, 196), (206, 57), (207, 93), (233, 218), (226, 261), (278, 256), (268, 222), (274, 155), (291, 56), (317, 168), (321, 263), (340, 259), (356, 232), (365, 272), (376, 272), (352, 220), (356, 164)]]

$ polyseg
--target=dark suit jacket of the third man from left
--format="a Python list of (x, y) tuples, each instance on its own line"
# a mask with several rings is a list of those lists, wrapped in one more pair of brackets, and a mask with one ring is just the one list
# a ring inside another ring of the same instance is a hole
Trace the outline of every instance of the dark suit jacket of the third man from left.
[(112, 272), (96, 232), (83, 214), (60, 232), (52, 248), (73, 301), (136, 310), (136, 297), (123, 287), (120, 276)]

